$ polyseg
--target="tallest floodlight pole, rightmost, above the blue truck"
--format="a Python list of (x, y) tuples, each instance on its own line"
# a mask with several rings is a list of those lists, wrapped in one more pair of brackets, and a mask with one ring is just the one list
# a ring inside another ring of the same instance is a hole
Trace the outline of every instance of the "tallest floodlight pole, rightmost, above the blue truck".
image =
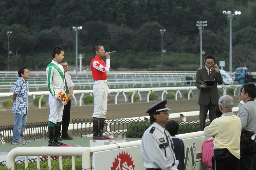
[(232, 19), (234, 15), (240, 15), (241, 11), (235, 11), (234, 13), (223, 11), (222, 13), (229, 18), (229, 74), (232, 77)]

